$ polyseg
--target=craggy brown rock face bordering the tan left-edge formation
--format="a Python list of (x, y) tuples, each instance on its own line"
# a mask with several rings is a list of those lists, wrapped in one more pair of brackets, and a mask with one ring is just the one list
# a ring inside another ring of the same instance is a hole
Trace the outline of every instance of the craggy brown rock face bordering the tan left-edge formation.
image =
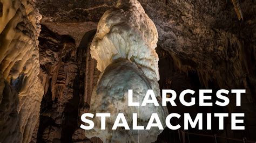
[(72, 132), (72, 127), (77, 124), (73, 121), (79, 103), (75, 41), (68, 35), (55, 34), (45, 26), (42, 26), (39, 41), (39, 78), (45, 95), (37, 141), (60, 141), (62, 135), (66, 137), (65, 127)]

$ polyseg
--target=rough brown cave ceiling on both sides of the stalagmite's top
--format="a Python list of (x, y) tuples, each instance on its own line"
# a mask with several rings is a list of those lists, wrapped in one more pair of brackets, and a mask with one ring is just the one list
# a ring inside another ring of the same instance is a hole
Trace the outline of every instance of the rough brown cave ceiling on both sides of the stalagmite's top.
[[(42, 24), (59, 34), (71, 35), (79, 45), (84, 33), (96, 29), (100, 17), (116, 2), (37, 0), (36, 4), (43, 15)], [(239, 76), (250, 70), (247, 63), (237, 61), (246, 56), (240, 54), (244, 46), (248, 51), (255, 48), (254, 1), (139, 2), (157, 27), (158, 47), (168, 52), (182, 71), (196, 70), (206, 87), (210, 75), (217, 77), (226, 72), (222, 67), (238, 70), (227, 74), (226, 81), (242, 78)], [(236, 82), (215, 80), (223, 87)]]

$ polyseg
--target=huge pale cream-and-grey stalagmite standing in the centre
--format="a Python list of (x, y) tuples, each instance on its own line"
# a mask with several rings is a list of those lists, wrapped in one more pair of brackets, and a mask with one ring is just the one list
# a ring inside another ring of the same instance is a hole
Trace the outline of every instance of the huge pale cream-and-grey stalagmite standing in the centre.
[[(118, 113), (124, 113), (132, 128), (132, 113), (138, 113), (138, 124), (146, 127), (152, 113), (158, 113), (165, 123), (166, 107), (161, 106), (159, 91), (158, 33), (152, 20), (136, 0), (118, 1), (106, 11), (98, 23), (91, 44), (91, 56), (97, 60), (102, 72), (92, 93), (90, 113), (111, 113), (106, 119), (106, 130), (100, 130), (100, 118), (95, 117), (95, 127), (85, 131), (88, 138), (99, 137), (104, 142), (156, 141), (161, 130), (111, 130)], [(133, 89), (133, 100), (142, 103), (146, 91), (153, 89), (160, 106), (128, 106), (127, 93)]]

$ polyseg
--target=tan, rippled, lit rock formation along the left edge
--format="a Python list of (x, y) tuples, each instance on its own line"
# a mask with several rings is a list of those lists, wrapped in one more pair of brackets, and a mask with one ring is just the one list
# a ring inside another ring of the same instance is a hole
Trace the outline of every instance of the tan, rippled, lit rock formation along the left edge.
[(33, 1), (0, 3), (0, 69), (1, 84), (5, 84), (0, 102), (0, 141), (29, 142), (43, 96), (37, 77), (41, 15)]

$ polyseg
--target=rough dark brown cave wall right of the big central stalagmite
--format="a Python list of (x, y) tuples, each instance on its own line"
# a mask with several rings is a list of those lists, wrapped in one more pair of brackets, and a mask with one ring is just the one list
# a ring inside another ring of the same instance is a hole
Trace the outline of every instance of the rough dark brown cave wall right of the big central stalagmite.
[(197, 112), (244, 112), (245, 131), (232, 131), (227, 119), (224, 131), (213, 130), (208, 134), (255, 140), (255, 2), (240, 2), (244, 20), (238, 19), (231, 1), (168, 1), (163, 5), (156, 2), (145, 6), (149, 16), (156, 18), (152, 19), (159, 32), (158, 46), (166, 59), (159, 61), (159, 68), (163, 62), (171, 70), (160, 71), (160, 81), (165, 82), (161, 77), (166, 79), (165, 87), (176, 91), (246, 89), (240, 107), (235, 106), (235, 97), (228, 95), (231, 103), (225, 109), (172, 107), (169, 111), (194, 115)]

